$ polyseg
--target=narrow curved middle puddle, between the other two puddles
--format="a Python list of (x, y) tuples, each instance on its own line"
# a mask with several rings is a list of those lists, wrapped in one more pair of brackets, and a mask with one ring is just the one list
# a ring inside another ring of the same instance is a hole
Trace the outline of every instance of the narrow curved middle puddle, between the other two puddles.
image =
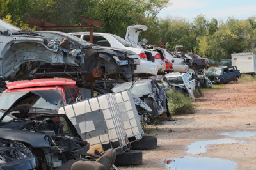
[(250, 141), (238, 141), (235, 139), (216, 139), (216, 140), (209, 140), (209, 141), (198, 141), (188, 146), (188, 153), (191, 154), (198, 154), (198, 153), (205, 153), (206, 146), (211, 144), (233, 144), (233, 143), (248, 143)]

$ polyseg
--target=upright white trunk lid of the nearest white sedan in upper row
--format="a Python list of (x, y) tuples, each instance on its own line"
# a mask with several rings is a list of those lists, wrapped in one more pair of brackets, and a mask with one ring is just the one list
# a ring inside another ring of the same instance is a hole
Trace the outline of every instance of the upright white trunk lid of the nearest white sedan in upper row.
[(146, 31), (147, 29), (148, 27), (145, 25), (128, 26), (125, 35), (125, 44), (132, 45), (132, 47), (137, 47), (140, 32)]

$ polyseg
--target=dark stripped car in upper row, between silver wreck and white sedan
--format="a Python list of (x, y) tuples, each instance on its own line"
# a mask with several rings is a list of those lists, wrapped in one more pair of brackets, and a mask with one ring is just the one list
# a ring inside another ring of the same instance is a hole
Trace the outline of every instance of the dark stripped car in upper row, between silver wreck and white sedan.
[[(79, 49), (84, 54), (83, 66), (70, 67), (63, 64), (49, 66), (49, 64), (46, 64), (40, 66), (36, 72), (36, 77), (52, 77), (53, 75), (58, 75), (58, 77), (65, 75), (76, 76), (77, 74), (86, 73), (92, 74), (93, 77), (97, 78), (129, 80), (132, 78), (134, 70), (136, 70), (136, 65), (140, 64), (138, 54), (130, 50), (93, 45), (77, 38), (77, 36), (59, 31), (37, 31), (36, 33), (44, 36), (48, 44), (53, 43), (53, 49), (58, 49), (62, 45), (69, 50)], [(74, 54), (77, 53), (74, 50), (72, 51)], [(86, 79), (86, 76), (84, 76), (84, 79)]]

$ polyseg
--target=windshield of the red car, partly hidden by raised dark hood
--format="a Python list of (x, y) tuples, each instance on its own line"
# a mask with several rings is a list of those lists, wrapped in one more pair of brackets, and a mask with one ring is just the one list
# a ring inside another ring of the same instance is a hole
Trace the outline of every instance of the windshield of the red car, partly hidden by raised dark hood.
[[(13, 91), (8, 93), (1, 93), (0, 96), (0, 109), (9, 109), (11, 105), (23, 95), (26, 95), (29, 91)], [(61, 91), (58, 91), (61, 94)], [(39, 100), (35, 103), (34, 107), (40, 109), (58, 109), (61, 105), (54, 105), (47, 102), (44, 98), (39, 98)]]

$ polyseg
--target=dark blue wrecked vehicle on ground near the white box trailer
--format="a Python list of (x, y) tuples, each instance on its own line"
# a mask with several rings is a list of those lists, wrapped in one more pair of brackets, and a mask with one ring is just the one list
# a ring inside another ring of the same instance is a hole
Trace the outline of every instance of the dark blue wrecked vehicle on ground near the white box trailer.
[(209, 68), (205, 71), (205, 74), (214, 84), (227, 84), (230, 81), (238, 81), (241, 77), (241, 73), (237, 69), (237, 66)]

